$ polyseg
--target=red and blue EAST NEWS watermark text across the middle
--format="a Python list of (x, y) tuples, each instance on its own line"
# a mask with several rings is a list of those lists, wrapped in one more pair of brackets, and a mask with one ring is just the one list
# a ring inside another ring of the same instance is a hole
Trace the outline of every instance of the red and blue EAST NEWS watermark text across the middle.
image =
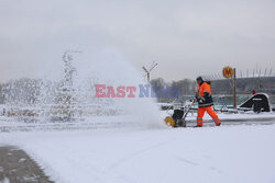
[(152, 87), (150, 84), (107, 85), (95, 84), (95, 98), (177, 98), (178, 87)]

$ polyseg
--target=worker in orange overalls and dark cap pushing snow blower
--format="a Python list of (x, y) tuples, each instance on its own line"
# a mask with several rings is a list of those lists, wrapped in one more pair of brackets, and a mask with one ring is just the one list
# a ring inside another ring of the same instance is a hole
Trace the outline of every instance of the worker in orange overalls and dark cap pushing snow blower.
[(221, 122), (218, 115), (212, 111), (213, 100), (211, 95), (210, 83), (204, 81), (201, 77), (198, 77), (197, 84), (196, 99), (198, 101), (198, 116), (196, 127), (202, 127), (202, 117), (205, 112), (207, 112), (212, 117), (216, 126), (220, 126)]

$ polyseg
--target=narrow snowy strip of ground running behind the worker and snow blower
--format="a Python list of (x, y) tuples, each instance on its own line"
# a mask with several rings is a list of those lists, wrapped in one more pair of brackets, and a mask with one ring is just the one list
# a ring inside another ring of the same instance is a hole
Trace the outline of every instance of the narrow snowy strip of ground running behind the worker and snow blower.
[[(103, 129), (103, 128), (144, 128), (165, 127), (163, 118), (172, 115), (173, 111), (162, 111), (161, 116), (156, 123), (144, 123), (143, 116), (94, 116), (85, 118), (85, 121), (76, 122), (23, 122), (16, 117), (0, 116), (0, 133), (1, 131), (48, 131), (48, 130), (79, 130), (79, 129)], [(158, 114), (160, 115), (160, 114)], [(238, 125), (238, 124), (275, 124), (275, 113), (245, 113), (245, 114), (222, 114), (218, 113), (219, 118), (223, 125)], [(187, 126), (196, 124), (197, 113), (189, 113), (186, 121)], [(154, 118), (153, 118), (154, 119)], [(155, 119), (154, 119), (155, 121)], [(211, 117), (206, 113), (204, 117), (206, 125), (213, 125)]]

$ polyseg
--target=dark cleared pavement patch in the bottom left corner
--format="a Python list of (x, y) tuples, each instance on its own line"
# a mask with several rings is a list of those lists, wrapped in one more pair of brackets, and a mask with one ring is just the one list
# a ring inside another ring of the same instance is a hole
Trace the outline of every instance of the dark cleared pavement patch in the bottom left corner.
[(53, 183), (21, 149), (0, 147), (0, 183)]

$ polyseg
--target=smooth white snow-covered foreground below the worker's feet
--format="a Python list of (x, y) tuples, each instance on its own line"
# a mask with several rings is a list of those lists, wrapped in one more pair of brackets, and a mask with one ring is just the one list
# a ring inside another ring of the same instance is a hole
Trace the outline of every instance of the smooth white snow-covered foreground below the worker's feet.
[(275, 125), (1, 133), (64, 183), (272, 183)]

